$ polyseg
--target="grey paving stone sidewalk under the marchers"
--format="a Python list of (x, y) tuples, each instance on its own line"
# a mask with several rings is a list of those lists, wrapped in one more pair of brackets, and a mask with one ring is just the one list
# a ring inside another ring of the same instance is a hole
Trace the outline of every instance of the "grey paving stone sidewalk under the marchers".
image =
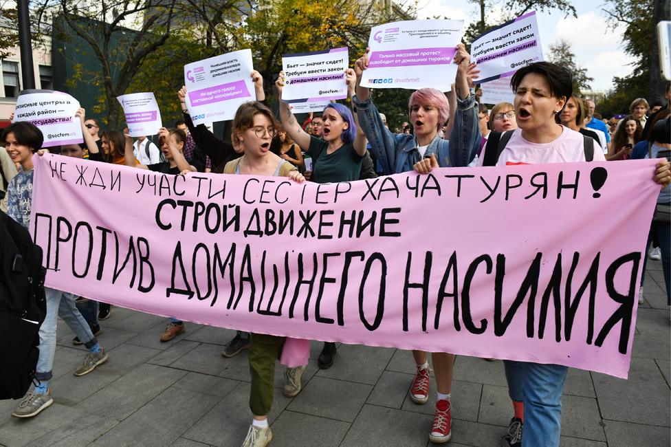
[[(646, 303), (639, 307), (629, 380), (571, 369), (564, 387), (562, 446), (670, 445), (670, 314), (661, 263), (648, 262)], [(77, 378), (84, 357), (59, 320), (55, 403), (28, 420), (10, 417), (19, 401), (0, 401), (2, 446), (240, 446), (250, 424), (246, 351), (221, 357), (234, 331), (187, 323), (159, 342), (166, 318), (114, 307), (101, 322), (109, 361)], [(304, 389), (282, 393), (276, 372), (272, 446), (430, 446), (431, 404), (408, 397), (414, 366), (399, 349), (340, 345), (319, 370), (312, 345)], [(456, 360), (452, 441), (499, 446), (511, 417), (503, 364)], [(432, 381), (432, 388), (434, 381)], [(435, 389), (430, 395), (435, 395)]]

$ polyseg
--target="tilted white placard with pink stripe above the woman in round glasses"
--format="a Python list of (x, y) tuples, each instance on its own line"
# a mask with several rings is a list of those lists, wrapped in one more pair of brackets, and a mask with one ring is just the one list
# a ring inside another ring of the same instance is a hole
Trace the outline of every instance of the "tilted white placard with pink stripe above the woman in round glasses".
[(239, 50), (184, 65), (186, 106), (193, 124), (232, 120), (254, 100), (252, 50)]

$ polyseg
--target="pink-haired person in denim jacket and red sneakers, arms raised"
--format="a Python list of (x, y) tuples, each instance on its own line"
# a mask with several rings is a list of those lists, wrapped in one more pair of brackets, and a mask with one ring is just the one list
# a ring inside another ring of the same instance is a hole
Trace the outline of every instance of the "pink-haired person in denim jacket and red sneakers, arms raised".
[[(467, 79), (470, 55), (463, 44), (458, 45), (454, 55), (454, 63), (458, 66), (455, 87), (458, 107), (449, 141), (439, 135), (440, 127), (448, 118), (448, 100), (441, 91), (432, 88), (419, 89), (410, 96), (408, 115), (415, 135), (394, 134), (386, 129), (370, 98), (370, 90), (360, 85), (361, 74), (368, 63), (369, 54), (366, 52), (355, 64), (358, 82), (352, 102), (383, 173), (411, 171), (412, 166), (423, 157), (430, 157), (436, 166), (467, 166), (478, 150), (481, 134), (476, 99), (470, 93)], [(417, 373), (412, 380), (410, 397), (417, 404), (425, 404), (428, 402), (430, 377), (428, 353), (412, 351), (412, 356), (417, 364)], [(443, 443), (452, 436), (450, 393), (454, 354), (432, 353), (432, 360), (437, 381), (437, 403), (429, 439)]]

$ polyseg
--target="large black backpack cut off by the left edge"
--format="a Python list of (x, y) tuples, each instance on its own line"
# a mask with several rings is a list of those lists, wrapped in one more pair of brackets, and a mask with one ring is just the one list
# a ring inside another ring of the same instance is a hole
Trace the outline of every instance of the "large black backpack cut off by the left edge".
[(35, 376), (47, 312), (42, 249), (0, 211), (0, 399), (19, 399)]

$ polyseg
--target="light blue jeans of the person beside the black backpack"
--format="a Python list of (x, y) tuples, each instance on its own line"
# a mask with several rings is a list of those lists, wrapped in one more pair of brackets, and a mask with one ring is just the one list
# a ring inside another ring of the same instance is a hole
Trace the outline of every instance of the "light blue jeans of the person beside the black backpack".
[(85, 347), (90, 348), (98, 342), (91, 328), (74, 303), (74, 296), (61, 290), (44, 288), (47, 298), (47, 315), (40, 327), (40, 356), (37, 360), (35, 378), (50, 380), (54, 367), (54, 353), (56, 352), (56, 320), (58, 316), (69, 326)]

